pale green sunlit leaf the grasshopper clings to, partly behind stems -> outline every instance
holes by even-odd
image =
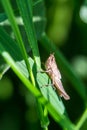
[[[29,58],[29,63],[30,63],[30,66],[31,68],[33,69],[34,67],[34,61]],[[24,61],[22,62],[18,62],[17,65],[20,67],[20,71],[23,73],[23,74],[26,74],[26,77],[27,77],[27,70],[26,70],[26,67],[25,69],[22,69],[22,67],[25,66],[25,63]],[[38,68],[39,69],[39,68]],[[34,72],[34,75],[35,75],[36,72]],[[53,90],[52,86],[49,86],[49,87],[46,87],[46,86],[43,86],[43,85],[47,85],[48,84],[48,80],[49,80],[49,83],[51,83],[49,77],[47,74],[45,73],[37,73],[37,83],[38,83],[38,87],[42,93],[42,95],[47,99],[49,100],[49,102],[54,106],[54,108],[56,108],[56,110],[63,114],[64,111],[65,111],[65,107],[62,103],[62,100],[60,100],[58,98],[58,95],[56,94],[56,92]],[[42,87],[43,86],[43,87]]]

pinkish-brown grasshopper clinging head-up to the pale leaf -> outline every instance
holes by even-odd
[[[53,85],[57,89],[58,94],[60,97],[64,97],[65,100],[69,100],[69,95],[65,92],[62,82],[61,82],[61,74],[57,67],[54,54],[50,54],[46,63],[45,63],[46,71],[49,77],[52,80]]]

